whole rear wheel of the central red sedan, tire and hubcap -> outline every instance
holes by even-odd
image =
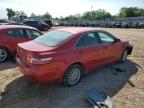
[[[65,72],[63,81],[64,86],[70,87],[78,84],[81,81],[82,74],[83,68],[80,65],[71,65]]]

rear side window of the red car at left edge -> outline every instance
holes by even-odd
[[[9,30],[7,34],[15,38],[25,38],[23,30]]]

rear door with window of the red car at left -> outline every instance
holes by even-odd
[[[11,49],[13,53],[16,53],[18,43],[28,41],[23,29],[11,29],[6,31],[7,36],[7,48]]]

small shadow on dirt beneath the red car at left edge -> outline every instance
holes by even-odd
[[[16,63],[13,59],[8,59],[7,61],[0,63],[0,71],[16,68]]]

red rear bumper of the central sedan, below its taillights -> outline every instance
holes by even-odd
[[[60,69],[55,69],[51,66],[28,66],[16,57],[17,65],[24,76],[38,84],[53,84],[60,83],[63,81],[63,71],[58,71]],[[57,65],[56,65],[57,66]]]

